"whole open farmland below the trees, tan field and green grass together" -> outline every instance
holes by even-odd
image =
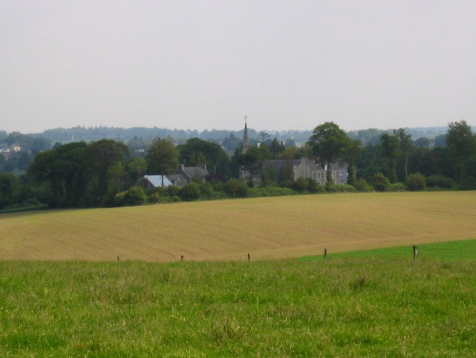
[[[474,357],[475,216],[476,192],[2,214],[0,357]]]

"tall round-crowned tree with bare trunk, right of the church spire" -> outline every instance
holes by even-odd
[[[313,129],[308,145],[315,156],[327,163],[327,182],[334,183],[331,164],[345,155],[350,147],[350,138],[334,122],[325,122]]]

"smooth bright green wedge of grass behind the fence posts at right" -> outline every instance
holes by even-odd
[[[418,246],[418,260],[431,259],[436,261],[474,261],[476,260],[476,240],[450,241],[447,243],[427,243]],[[385,248],[375,250],[363,250],[352,252],[329,252],[328,260],[334,259],[361,259],[364,257],[380,258],[411,258],[413,249],[411,246],[399,246],[396,248]],[[322,260],[322,255],[301,257],[302,261]]]

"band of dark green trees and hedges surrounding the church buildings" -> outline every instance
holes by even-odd
[[[12,139],[18,140],[19,137]],[[265,166],[269,159],[291,162],[300,157],[315,158],[327,164],[327,191],[335,190],[329,164],[344,161],[348,162],[348,184],[357,190],[476,189],[476,137],[465,121],[449,123],[445,146],[413,141],[405,129],[383,133],[378,142],[363,145],[359,138],[351,138],[333,122],[315,127],[308,141],[299,148],[276,137],[270,138],[262,131],[245,155],[236,148],[231,157],[222,145],[201,138],[190,138],[177,145],[170,136],[159,136],[143,144],[147,145],[147,154],[135,152],[130,146],[112,139],[89,144],[56,143],[51,149],[32,152],[34,157],[27,164],[25,174],[0,173],[0,209],[40,203],[47,203],[50,207],[121,205],[128,197],[124,193],[134,187],[141,176],[146,173],[168,175],[177,170],[179,164],[206,164],[210,172],[206,178],[208,186],[203,186],[202,178],[199,178],[190,187],[182,188],[180,195],[178,188],[168,191],[159,188],[156,192],[145,193],[140,201],[147,201],[149,197],[149,201],[156,202],[160,201],[160,196],[181,199],[197,199],[200,195],[204,199],[214,195],[221,197],[221,194],[212,195],[214,192],[223,192],[230,197],[243,196],[243,193],[245,196],[250,193],[254,196],[279,194],[278,189],[246,192],[246,187],[255,185],[285,187],[297,192],[322,192],[324,189],[316,188],[312,180],[294,180],[292,166],[285,167],[281,173]],[[239,182],[240,167],[255,173],[260,181]],[[133,195],[133,191],[129,194]],[[119,199],[118,194],[121,194]],[[156,195],[153,197],[152,194]],[[142,194],[140,196],[142,198]]]

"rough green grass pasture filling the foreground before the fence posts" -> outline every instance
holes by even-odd
[[[1,262],[1,357],[476,354],[476,262]]]

